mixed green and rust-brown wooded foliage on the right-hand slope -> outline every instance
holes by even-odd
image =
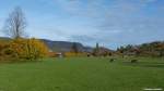
[[[164,41],[154,41],[140,46],[128,44],[117,49],[124,55],[164,56]]]

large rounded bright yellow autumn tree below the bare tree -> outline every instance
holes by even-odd
[[[44,42],[38,39],[15,39],[13,40],[11,48],[14,50],[15,55],[19,58],[36,60],[48,54],[48,48]]]

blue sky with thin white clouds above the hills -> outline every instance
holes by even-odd
[[[117,49],[164,40],[164,0],[0,0],[0,36],[21,6],[28,37]]]

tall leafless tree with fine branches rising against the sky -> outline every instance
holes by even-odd
[[[9,37],[16,39],[25,36],[26,20],[21,8],[16,6],[9,14],[3,30]]]

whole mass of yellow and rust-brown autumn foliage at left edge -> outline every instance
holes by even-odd
[[[47,53],[47,47],[34,38],[17,38],[11,42],[0,44],[0,56],[3,57],[3,60],[8,60],[9,57],[16,60],[37,60],[46,56]]]

